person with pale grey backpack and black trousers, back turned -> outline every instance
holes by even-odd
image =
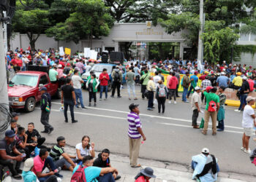
[[[162,80],[159,80],[156,92],[157,92],[156,98],[157,98],[157,103],[158,103],[158,114],[161,113],[161,106],[162,106],[162,114],[164,114],[165,113],[165,100],[166,100],[168,90],[167,90],[167,87],[165,87],[165,84],[163,84]]]

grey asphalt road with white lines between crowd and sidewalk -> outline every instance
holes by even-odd
[[[59,111],[60,100],[53,99],[50,124],[55,130],[50,135],[44,135],[47,137],[46,142],[56,143],[56,138],[63,135],[68,145],[75,146],[83,135],[89,135],[97,151],[108,148],[113,153],[129,154],[128,106],[129,103],[139,103],[140,118],[147,138],[140,148],[140,157],[189,165],[192,155],[199,154],[201,149],[207,147],[211,154],[218,158],[220,170],[223,172],[255,174],[255,167],[249,161],[249,154],[240,150],[242,113],[233,111],[232,107],[226,107],[225,132],[218,132],[212,136],[209,130],[208,135],[203,135],[200,130],[191,127],[190,103],[181,102],[181,98],[178,98],[176,105],[166,102],[165,114],[159,115],[157,108],[154,111],[146,110],[147,100],[141,99],[139,86],[136,86],[136,94],[139,100],[128,100],[127,90],[124,89],[121,90],[122,98],[109,97],[108,100],[97,100],[97,107],[75,109],[75,119],[78,119],[78,123],[75,124],[64,122],[64,114]],[[85,90],[83,98],[85,105],[88,106],[89,94]],[[200,114],[198,124],[201,117]],[[39,119],[40,110],[37,106],[31,113],[21,112],[19,122],[25,127],[29,122],[34,122],[36,128],[41,131],[43,127]],[[252,139],[249,146],[250,149],[255,148]]]

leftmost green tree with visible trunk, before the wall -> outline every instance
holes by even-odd
[[[28,6],[31,2],[31,0],[23,1]],[[26,9],[20,4],[20,1],[17,1],[15,16],[12,18],[12,29],[15,32],[26,33],[29,37],[31,50],[35,50],[35,43],[40,33],[43,33],[50,25],[49,11],[42,10],[46,8],[48,8],[48,5],[41,0],[37,1],[37,5],[33,9]]]

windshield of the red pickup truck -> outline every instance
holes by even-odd
[[[15,85],[27,85],[30,87],[36,87],[38,82],[38,76],[16,74],[11,80],[12,84]]]

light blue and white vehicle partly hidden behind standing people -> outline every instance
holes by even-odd
[[[110,80],[108,81],[108,92],[110,92],[110,90],[112,90],[112,71],[113,68],[115,68],[115,64],[109,64],[109,63],[99,63],[99,64],[95,64],[90,71],[94,71],[94,74],[96,75],[96,78],[99,79],[99,74],[102,73],[103,68],[107,69],[108,75],[110,77]],[[86,89],[86,82],[87,82],[87,78],[90,76],[90,71],[86,72],[82,75],[82,79],[83,79],[83,89]],[[125,76],[127,75],[127,70],[125,68],[123,68],[123,81],[122,84],[126,83],[125,80]]]

